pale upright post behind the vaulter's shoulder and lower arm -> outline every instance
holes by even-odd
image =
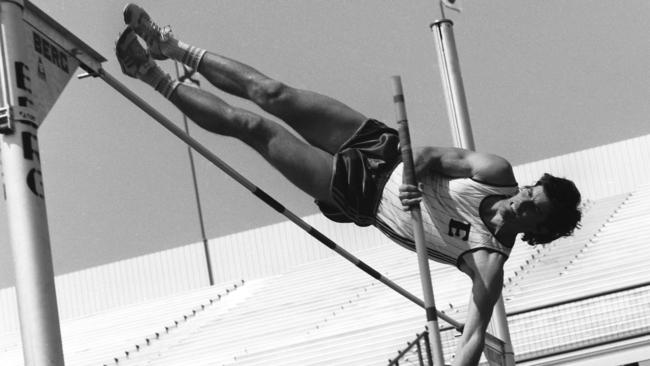
[[[454,39],[453,22],[449,19],[438,20],[431,24],[431,30],[438,51],[440,76],[445,92],[445,100],[447,101],[447,113],[454,145],[468,150],[475,150],[467,98]],[[514,366],[514,351],[503,297],[500,297],[495,305],[492,322],[495,325],[495,336],[504,342],[506,366]]]

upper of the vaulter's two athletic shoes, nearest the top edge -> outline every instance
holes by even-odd
[[[161,49],[165,42],[172,37],[169,26],[160,27],[151,20],[151,17],[141,7],[135,4],[127,4],[124,7],[124,23],[133,28],[135,33],[147,42],[149,54],[156,60],[165,60],[167,56]]]

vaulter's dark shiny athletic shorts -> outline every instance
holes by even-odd
[[[334,155],[330,183],[333,204],[316,204],[332,221],[372,225],[384,185],[400,161],[397,131],[377,120],[367,120]]]

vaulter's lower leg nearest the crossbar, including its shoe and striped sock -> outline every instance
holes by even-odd
[[[125,74],[153,86],[197,124],[240,139],[307,194],[320,201],[329,201],[331,154],[306,144],[269,119],[232,107],[207,91],[172,80],[129,29],[118,40],[116,54]]]

